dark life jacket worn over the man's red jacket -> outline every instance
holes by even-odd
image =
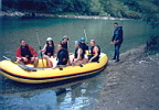
[[[26,58],[33,57],[33,55],[31,54],[29,50],[29,45],[20,46],[20,50],[21,50],[21,56],[26,57]]]

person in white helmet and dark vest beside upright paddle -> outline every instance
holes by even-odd
[[[52,37],[46,38],[46,44],[44,45],[42,52],[44,52],[44,59],[46,61],[47,67],[52,67],[53,62],[51,61],[51,58],[54,57],[55,53],[54,42]]]

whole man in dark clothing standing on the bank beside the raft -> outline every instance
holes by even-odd
[[[116,59],[115,62],[117,63],[117,62],[119,62],[120,45],[124,41],[124,38],[123,38],[123,26],[119,26],[118,23],[114,23],[114,28],[115,28],[115,31],[114,31],[114,36],[112,38],[110,44],[115,45],[115,54],[114,54],[113,59]]]

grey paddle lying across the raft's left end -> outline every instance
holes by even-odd
[[[7,56],[2,56],[2,57],[3,57],[4,59],[7,59],[7,61],[12,62],[12,59],[9,58],[9,57],[7,57]],[[31,68],[31,67],[28,67],[26,65],[22,65],[22,64],[15,63],[15,62],[12,62],[12,63],[18,64],[18,66],[21,67],[21,68],[24,69],[24,70],[28,70],[28,72],[36,72],[36,69]]]

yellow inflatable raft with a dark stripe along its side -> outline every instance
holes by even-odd
[[[108,62],[106,54],[102,53],[98,63],[83,64],[83,66],[67,66],[61,68],[42,68],[42,62],[39,62],[36,70],[29,72],[21,68],[17,63],[11,61],[0,62],[0,73],[4,77],[25,84],[43,84],[62,81],[73,78],[94,75],[102,72]],[[45,62],[44,62],[45,64]]]

